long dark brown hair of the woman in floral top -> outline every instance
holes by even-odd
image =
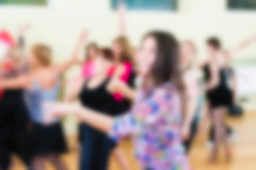
[[[178,41],[172,34],[164,31],[152,31],[146,34],[146,37],[154,37],[157,42],[157,56],[148,78],[154,86],[172,82],[180,92],[182,113],[186,113],[186,94],[180,69]]]

